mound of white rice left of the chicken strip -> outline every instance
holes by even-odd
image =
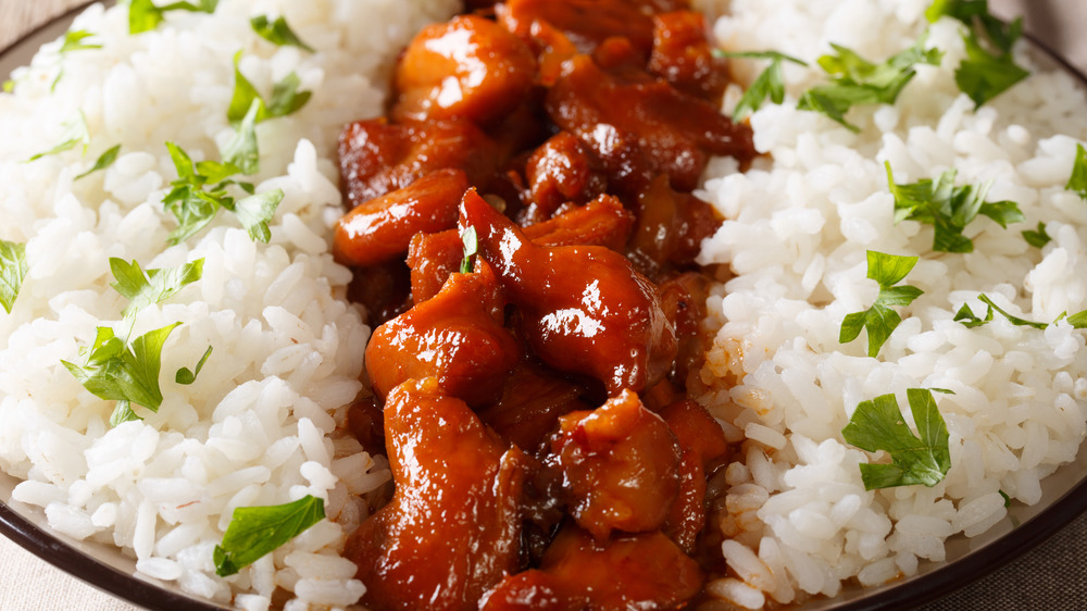
[[[447,18],[453,0],[223,0],[214,15],[171,12],[154,32],[128,35],[127,8],[93,5],[72,30],[102,49],[61,57],[47,45],[0,95],[0,239],[26,242],[29,273],[11,314],[0,311],[0,469],[25,479],[13,501],[43,508],[76,539],[123,548],[142,578],[243,609],[345,607],[364,591],[339,556],[366,515],[358,499],[390,478],[388,462],[333,435],[362,386],[368,328],[347,302],[350,273],[328,251],[340,213],[335,142],[342,124],[380,114],[389,66],[410,36]],[[285,15],[316,49],[276,47],[255,15]],[[195,161],[218,160],[232,129],[233,58],[265,98],[290,72],[310,102],[261,123],[258,191],[286,194],[268,245],[221,211],[187,242],[162,199],[176,178],[165,141]],[[59,80],[57,80],[60,75]],[[55,86],[53,87],[53,83]],[[52,89],[52,90],[51,90]],[[26,162],[86,117],[90,145]],[[86,178],[103,151],[121,155]],[[127,302],[110,287],[109,259],[145,269],[203,258],[203,278],[140,312],[133,337],[183,323],[162,352],[165,400],[115,428],[113,403],[61,365],[96,327],[124,335]],[[174,372],[214,352],[191,386]],[[212,550],[237,507],[313,495],[330,519],[242,570],[215,575]],[[332,520],[335,520],[332,521]],[[242,594],[245,593],[245,594]]]

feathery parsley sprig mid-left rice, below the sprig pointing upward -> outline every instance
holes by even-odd
[[[211,223],[221,208],[234,212],[252,239],[267,244],[272,238],[267,224],[283,201],[282,189],[252,195],[251,184],[230,179],[230,176],[241,172],[233,162],[192,163],[188,153],[177,145],[166,142],[166,148],[177,170],[177,179],[171,183],[173,190],[162,200],[177,220],[177,228],[170,234],[170,244],[183,242],[198,234]],[[250,194],[249,197],[235,201],[227,191],[230,185]]]

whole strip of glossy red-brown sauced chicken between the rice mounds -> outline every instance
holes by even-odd
[[[687,390],[721,224],[691,190],[750,129],[687,0],[467,8],[339,142],[334,248],[375,327],[349,426],[395,486],[348,541],[362,602],[686,607],[729,451]]]

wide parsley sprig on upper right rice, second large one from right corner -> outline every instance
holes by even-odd
[[[803,92],[797,108],[825,114],[853,132],[859,127],[846,121],[850,108],[859,104],[892,104],[916,74],[914,65],[939,65],[944,53],[939,49],[925,50],[927,36],[896,53],[882,64],[872,63],[839,45],[830,45],[837,54],[823,55],[819,64],[830,75],[833,83],[819,85]]]

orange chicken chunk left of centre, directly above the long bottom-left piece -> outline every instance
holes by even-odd
[[[385,323],[366,346],[366,371],[385,397],[409,379],[434,377],[447,396],[480,406],[498,399],[521,350],[505,328],[493,272],[453,274],[433,299]]]

